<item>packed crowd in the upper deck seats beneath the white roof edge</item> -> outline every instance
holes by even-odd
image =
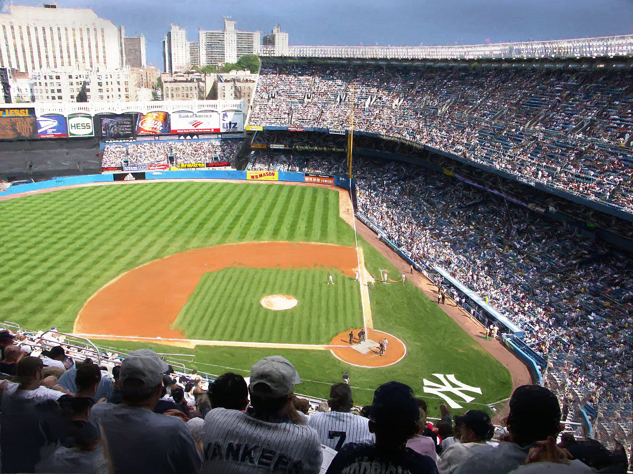
[[[613,69],[613,68],[611,68]],[[630,70],[265,64],[251,125],[428,145],[633,212]]]

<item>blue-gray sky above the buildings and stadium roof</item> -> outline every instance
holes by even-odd
[[[6,4],[11,0],[1,0]],[[41,6],[42,1],[13,4]],[[58,0],[59,8],[91,8],[127,36],[143,34],[147,63],[162,68],[170,23],[263,34],[279,23],[289,44],[419,46],[482,44],[633,34],[633,0]]]

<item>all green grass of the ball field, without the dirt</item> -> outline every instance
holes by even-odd
[[[151,260],[192,248],[275,240],[354,245],[353,229],[339,217],[338,192],[307,186],[187,182],[96,186],[0,202],[0,216],[0,312],[3,319],[29,329],[55,325],[60,331],[70,332],[78,310],[108,281]],[[373,274],[385,267],[391,268],[391,275],[398,274],[371,245],[362,239],[360,244]],[[235,284],[215,289],[222,292],[223,299],[236,300],[252,294],[258,301],[263,292],[272,288],[265,286],[266,271],[257,270],[258,274],[245,284],[249,269],[227,269],[227,276],[235,276]],[[306,281],[323,278],[319,270],[311,270],[314,275],[309,277],[309,271],[305,271]],[[199,321],[220,308],[218,300],[201,307],[206,304],[204,287],[207,283],[213,285],[218,275],[220,272],[203,279],[179,324],[186,326],[188,332],[208,334],[209,339],[220,339],[218,334],[260,337],[254,330],[250,335],[240,334],[239,328],[231,327],[237,325],[233,319],[236,315],[250,316],[247,310],[235,312],[235,307],[230,308],[223,332],[219,332],[218,325],[205,326]],[[279,293],[292,294],[293,287],[304,295],[312,291],[301,290],[296,278],[288,285],[290,289]],[[306,316],[303,325],[298,325],[298,333],[292,329],[292,337],[299,341],[310,337],[327,341],[323,334],[334,335],[347,329],[334,326],[339,320],[347,326],[349,320],[345,317],[358,317],[346,315],[348,308],[358,311],[358,287],[339,288],[335,291],[343,291],[344,297],[319,301],[318,312],[312,313],[312,319]],[[319,289],[315,286],[315,291]],[[304,298],[318,301],[316,294]],[[327,396],[329,384],[340,381],[349,369],[358,403],[368,403],[380,383],[401,380],[432,401],[432,407],[437,406],[439,399],[422,392],[423,378],[437,381],[433,373],[455,374],[461,382],[481,387],[483,394],[475,394],[477,399],[471,404],[462,403],[465,408],[480,408],[483,403],[510,395],[508,370],[413,284],[377,284],[370,289],[370,298],[376,329],[398,336],[408,348],[406,358],[391,367],[350,367],[329,351],[204,346],[194,350],[179,348],[177,352],[196,354],[191,367],[199,370],[215,374],[235,370],[243,375],[248,374],[257,358],[281,354],[296,364],[305,380],[298,392],[322,397]],[[327,319],[319,315],[322,312],[328,313]],[[242,325],[248,324],[246,319],[242,321]],[[290,334],[289,325],[283,318],[280,321],[284,324],[275,323],[276,329],[266,327],[270,341],[287,340],[283,338]],[[103,344],[120,350],[153,346],[173,353],[175,349],[119,341]]]

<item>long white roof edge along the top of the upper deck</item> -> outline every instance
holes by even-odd
[[[261,46],[260,56],[358,59],[573,59],[632,58],[633,35],[467,46],[289,46],[278,54]]]

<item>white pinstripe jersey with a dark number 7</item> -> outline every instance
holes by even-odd
[[[369,432],[368,423],[367,418],[344,411],[315,413],[308,421],[318,433],[321,444],[336,451],[348,443],[373,443],[375,438]]]

